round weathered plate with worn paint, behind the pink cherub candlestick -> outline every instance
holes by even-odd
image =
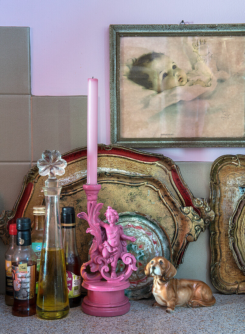
[[[141,299],[151,295],[153,278],[145,276],[144,267],[156,256],[163,256],[172,262],[172,246],[164,227],[157,220],[139,212],[119,213],[118,224],[123,226],[124,233],[135,236],[135,242],[127,241],[127,251],[136,259],[137,271],[129,278],[130,287],[125,289],[129,299]],[[122,270],[122,261],[118,271]]]

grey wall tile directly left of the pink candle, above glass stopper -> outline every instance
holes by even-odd
[[[87,145],[87,96],[32,96],[33,161]]]

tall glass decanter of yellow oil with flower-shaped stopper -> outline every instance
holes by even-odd
[[[69,313],[66,265],[59,216],[61,187],[56,175],[63,175],[67,163],[58,151],[44,151],[37,161],[39,174],[48,175],[43,192],[46,203],[36,313],[41,319],[60,319]]]

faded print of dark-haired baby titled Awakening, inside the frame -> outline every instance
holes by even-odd
[[[244,137],[244,51],[244,36],[120,37],[121,137]]]

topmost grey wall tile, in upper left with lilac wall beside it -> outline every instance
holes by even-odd
[[[30,94],[29,27],[0,27],[0,94]]]

